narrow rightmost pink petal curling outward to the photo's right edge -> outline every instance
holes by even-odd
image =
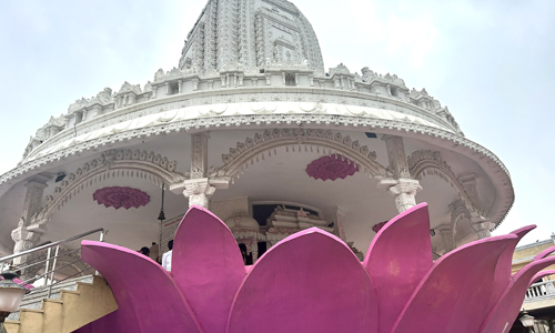
[[[518,271],[477,332],[508,332],[508,329],[511,329],[512,323],[518,315],[532,279],[537,272],[554,263],[555,258],[552,256],[534,261]]]

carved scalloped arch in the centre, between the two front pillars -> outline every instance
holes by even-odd
[[[387,175],[386,169],[377,163],[376,153],[370,151],[366,145],[361,147],[359,141],[353,141],[351,137],[343,137],[341,132],[332,130],[315,129],[274,129],[265,130],[263,133],[254,134],[254,139],[246,138],[244,142],[238,142],[236,148],[230,148],[229,154],[222,154],[224,163],[218,170],[210,172],[211,179],[230,180],[239,172],[248,169],[249,163],[253,164],[264,160],[264,155],[276,154],[276,149],[286,147],[286,152],[292,153],[303,151],[314,151],[322,149],[330,151],[330,154],[339,152],[345,158],[354,161],[371,178],[383,178]]]

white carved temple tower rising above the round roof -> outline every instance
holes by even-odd
[[[285,0],[212,0],[189,32],[180,70],[307,64],[324,72],[320,44],[301,11]]]

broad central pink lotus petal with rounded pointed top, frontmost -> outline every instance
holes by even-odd
[[[345,243],[312,228],[254,264],[233,303],[228,332],[377,332],[374,286]]]

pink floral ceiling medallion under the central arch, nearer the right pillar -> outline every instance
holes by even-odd
[[[359,171],[359,165],[347,158],[340,154],[333,154],[330,157],[323,157],[317,160],[312,161],[312,163],[306,167],[306,173],[313,179],[336,180],[345,179],[347,175],[353,175]]]

